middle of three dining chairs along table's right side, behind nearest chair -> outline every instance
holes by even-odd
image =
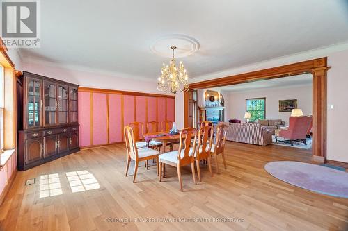
[[[198,131],[198,146],[195,155],[196,168],[198,173],[198,180],[202,182],[200,178],[200,160],[207,160],[207,164],[209,167],[210,175],[213,176],[212,173],[212,139],[213,139],[213,130],[212,126],[203,126]]]

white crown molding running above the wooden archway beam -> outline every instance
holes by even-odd
[[[311,60],[315,58],[321,58],[327,56],[331,53],[348,50],[348,41],[333,44],[330,46],[322,46],[318,49],[312,49],[308,51],[303,51],[299,53],[294,53],[291,55],[280,56],[278,58],[272,58],[269,60],[264,60],[262,62],[255,62],[250,65],[244,65],[241,67],[234,67],[231,69],[225,69],[223,71],[216,71],[203,76],[198,76],[196,78],[191,78],[190,83],[197,83],[203,80],[210,80],[214,78],[223,78],[226,76],[233,76],[236,74],[242,74],[250,71],[258,71],[260,69],[268,69],[271,67],[278,67],[281,65],[287,65],[294,62],[301,62],[306,60]]]

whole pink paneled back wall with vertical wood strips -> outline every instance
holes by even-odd
[[[99,89],[80,89],[78,105],[81,147],[122,142],[123,126],[134,121],[143,122],[145,132],[148,121],[161,122],[165,119],[174,121],[173,98],[138,96],[135,93],[129,95],[112,91],[100,93]],[[90,123],[90,119],[93,123]],[[91,131],[93,131],[92,139]]]

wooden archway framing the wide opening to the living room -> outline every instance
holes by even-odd
[[[313,161],[324,163],[326,160],[326,71],[327,58],[317,58],[290,65],[252,71],[235,76],[215,78],[198,83],[191,83],[190,89],[203,89],[208,87],[222,87],[239,83],[248,83],[272,78],[283,78],[299,74],[311,73],[313,75]],[[184,125],[188,126],[189,92],[184,94]]]

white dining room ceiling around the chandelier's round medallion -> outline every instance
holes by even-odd
[[[171,34],[199,44],[178,58],[191,78],[348,41],[345,0],[45,0],[40,7],[41,48],[22,49],[24,62],[151,80],[169,60],[150,46]]]

